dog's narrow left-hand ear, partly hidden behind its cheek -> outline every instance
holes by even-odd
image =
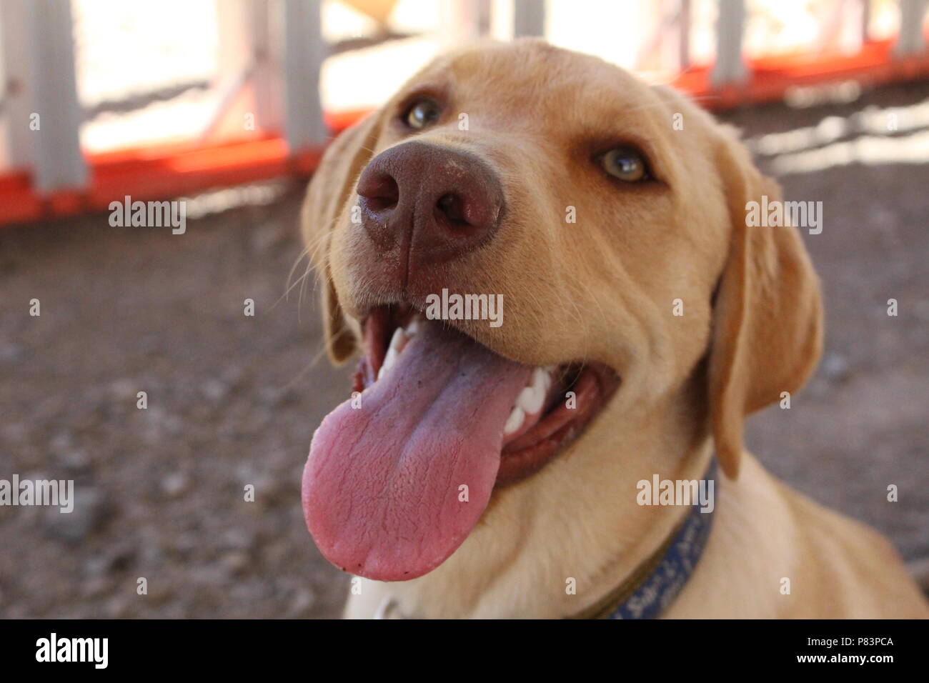
[[[329,247],[335,220],[341,215],[372,150],[380,137],[383,112],[373,112],[347,128],[322,155],[309,183],[300,215],[309,259],[317,269],[322,292],[322,323],[326,350],[334,363],[345,361],[355,350],[355,335],[346,323],[329,266]]]

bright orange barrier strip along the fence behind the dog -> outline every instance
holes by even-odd
[[[682,73],[674,86],[700,98],[700,104],[720,110],[746,102],[782,98],[791,87],[856,80],[879,85],[929,76],[929,54],[895,59],[892,41],[873,41],[856,55],[755,59],[744,84],[714,88],[712,66]],[[365,112],[328,113],[334,134]],[[290,154],[284,140],[263,137],[210,145],[162,145],[137,150],[88,155],[89,187],[38,195],[27,172],[0,175],[0,224],[107,210],[128,195],[147,201],[189,195],[199,190],[229,187],[270,177],[307,177],[319,164],[322,148]]]

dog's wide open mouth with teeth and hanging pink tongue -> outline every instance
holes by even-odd
[[[545,466],[619,384],[604,365],[533,367],[409,307],[373,309],[352,400],[323,419],[307,527],[336,566],[380,581],[435,569],[495,486]]]

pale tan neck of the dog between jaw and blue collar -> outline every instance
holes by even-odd
[[[656,474],[700,479],[710,462],[700,402],[681,398],[669,397],[659,411],[610,406],[569,452],[496,493],[478,527],[438,569],[384,584],[396,611],[413,618],[551,618],[602,601],[661,550],[688,512],[638,505],[637,482]]]

